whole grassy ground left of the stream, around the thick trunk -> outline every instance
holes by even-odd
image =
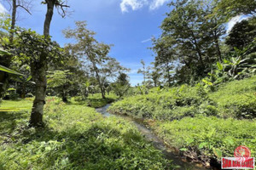
[[[31,100],[1,107],[31,107]],[[30,110],[0,113],[0,169],[168,169],[159,150],[120,118],[47,99],[46,127],[28,128]]]

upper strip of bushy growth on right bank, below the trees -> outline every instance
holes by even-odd
[[[234,118],[256,117],[256,77],[222,84],[206,93],[200,85],[151,89],[149,94],[127,97],[109,111],[138,118],[179,120],[185,116],[206,115]]]

